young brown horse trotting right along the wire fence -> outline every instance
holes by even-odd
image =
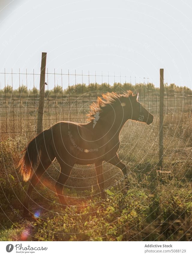
[[[31,180],[24,201],[24,213],[29,213],[28,203],[32,189],[55,157],[61,167],[55,190],[64,209],[67,203],[63,187],[74,164],[95,164],[102,199],[105,198],[103,161],[117,166],[124,177],[127,176],[126,166],[117,154],[119,133],[128,119],[150,125],[153,115],[137,101],[138,93],[106,93],[102,97],[104,100],[98,97],[92,103],[88,123],[58,122],[38,134],[23,150],[26,152],[19,162],[20,172],[24,181]]]

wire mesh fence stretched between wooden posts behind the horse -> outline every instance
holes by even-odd
[[[0,73],[0,121],[1,133],[36,132],[40,99],[40,74],[6,72]],[[149,78],[136,78],[109,73],[83,73],[46,70],[44,96],[44,129],[58,121],[86,123],[90,105],[102,93],[139,92],[139,101],[159,125],[158,84]],[[188,87],[164,83],[164,124],[187,122],[191,118],[192,91]],[[128,121],[126,125],[142,125]]]

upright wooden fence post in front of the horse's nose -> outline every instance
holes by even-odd
[[[160,103],[159,103],[159,167],[163,164],[163,122],[164,122],[164,69],[160,68]]]

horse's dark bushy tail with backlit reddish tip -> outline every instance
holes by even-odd
[[[20,172],[23,176],[24,181],[31,179],[34,167],[37,165],[40,157],[40,152],[43,145],[46,146],[47,142],[52,139],[52,129],[42,131],[34,139],[32,139],[27,147],[22,151],[25,152],[24,156],[19,161]]]

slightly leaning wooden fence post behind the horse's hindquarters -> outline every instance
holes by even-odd
[[[40,75],[40,89],[39,89],[39,108],[37,121],[37,134],[43,131],[43,112],[44,112],[44,97],[45,97],[45,70],[46,70],[47,53],[42,52],[41,57],[41,75]]]

